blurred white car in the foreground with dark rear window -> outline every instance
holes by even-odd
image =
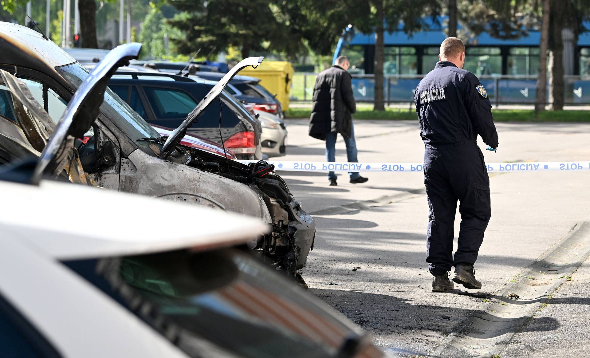
[[[2,357],[383,356],[232,248],[267,230],[258,219],[48,180],[0,192]]]

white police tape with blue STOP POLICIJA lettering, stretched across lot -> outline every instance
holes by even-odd
[[[248,164],[257,160],[236,160]],[[274,164],[275,170],[287,172],[373,172],[373,173],[416,173],[424,170],[422,163],[346,163],[346,162],[300,162],[267,160]],[[510,172],[559,172],[590,170],[590,162],[514,162],[486,163],[489,173]]]

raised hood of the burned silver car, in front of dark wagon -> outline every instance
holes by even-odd
[[[225,74],[224,77],[221,78],[221,80],[219,80],[219,82],[217,84],[215,84],[215,86],[213,86],[213,88],[211,88],[209,93],[207,93],[207,96],[205,96],[196,105],[195,109],[192,110],[191,113],[188,114],[188,116],[186,116],[186,119],[184,121],[182,121],[181,125],[172,131],[172,134],[170,134],[168,139],[166,139],[166,142],[164,143],[164,146],[162,147],[162,153],[160,153],[160,156],[166,157],[172,152],[172,150],[174,150],[174,148],[180,142],[182,137],[185,136],[186,130],[188,129],[188,127],[190,127],[191,124],[201,115],[201,113],[203,113],[203,111],[205,111],[205,109],[207,109],[209,104],[211,104],[215,100],[215,98],[217,98],[219,96],[219,94],[221,94],[221,91],[223,91],[225,86],[227,86],[228,83],[230,83],[231,79],[234,78],[234,76],[238,72],[240,72],[240,70],[242,70],[242,68],[245,68],[248,66],[252,66],[252,67],[256,68],[256,67],[258,67],[258,65],[260,65],[262,63],[263,60],[264,60],[264,57],[244,58],[244,60],[241,60],[240,63],[235,65],[234,68],[232,68],[230,70],[230,72]]]

